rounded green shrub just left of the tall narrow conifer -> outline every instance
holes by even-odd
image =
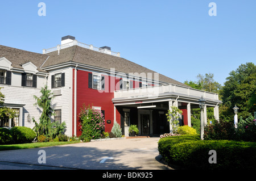
[[[24,144],[32,142],[35,139],[36,134],[31,128],[13,127],[11,128],[11,136],[13,136],[15,144]]]

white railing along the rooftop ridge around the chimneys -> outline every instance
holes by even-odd
[[[88,44],[85,44],[85,43],[81,43],[77,40],[73,40],[73,41],[71,41],[69,43],[66,43],[66,44],[63,44],[63,45],[57,45],[57,47],[43,49],[43,54],[50,53],[50,52],[55,52],[57,50],[72,47],[74,45],[77,45],[77,46],[82,47],[82,48],[91,49],[91,50],[94,50],[96,52],[106,53],[106,54],[110,54],[112,56],[120,57],[119,52],[113,52],[113,51],[108,50],[108,49],[93,47],[93,45],[88,45]]]

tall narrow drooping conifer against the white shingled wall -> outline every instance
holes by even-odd
[[[47,86],[42,87],[40,92],[42,93],[40,97],[34,95],[36,100],[35,106],[39,106],[43,111],[39,118],[39,124],[35,121],[34,117],[32,118],[35,123],[33,129],[36,132],[36,136],[43,135],[48,139],[54,139],[60,133],[65,131],[65,122],[61,124],[59,122],[51,122],[51,116],[54,113],[54,110],[51,107],[53,95],[51,90],[48,90]]]

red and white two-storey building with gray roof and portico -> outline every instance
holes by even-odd
[[[177,106],[183,111],[180,124],[191,126],[191,109],[204,97],[207,107],[214,107],[218,119],[218,94],[192,89],[120,57],[110,47],[97,48],[80,43],[73,36],[61,38],[57,47],[33,53],[0,45],[0,84],[5,105],[14,108],[17,117],[1,118],[0,127],[34,127],[40,108],[34,95],[40,96],[44,85],[53,92],[52,121],[65,121],[68,136],[80,136],[77,116],[82,106],[92,106],[105,116],[105,131],[114,121],[128,136],[129,125],[136,124],[139,134],[170,132],[167,110]],[[204,116],[207,116],[205,107]],[[206,120],[206,119],[205,119]]]

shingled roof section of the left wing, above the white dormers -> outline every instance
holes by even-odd
[[[45,70],[40,69],[40,66],[48,57],[46,54],[28,52],[26,50],[0,45],[0,58],[1,57],[5,57],[7,60],[11,61],[13,68],[23,69],[23,64],[32,62],[35,66],[38,67],[38,71],[46,72]]]

